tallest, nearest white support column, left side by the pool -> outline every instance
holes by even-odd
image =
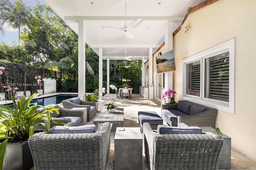
[[[84,20],[78,20],[78,97],[85,94],[85,34]]]

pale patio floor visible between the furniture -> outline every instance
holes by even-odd
[[[110,94],[111,98],[114,98],[114,94]],[[110,103],[108,95],[102,97],[99,100],[99,107],[97,115],[103,108],[106,108],[104,104]],[[158,115],[161,115],[161,103],[156,100],[144,99],[139,94],[132,94],[132,99],[118,99],[116,98],[116,105],[124,108],[124,127],[139,127],[138,123],[138,111],[155,111]],[[96,116],[97,116],[96,115]],[[87,124],[93,124],[93,120],[96,116]],[[112,124],[111,128],[111,146],[110,154],[108,158],[108,170],[114,169],[114,136],[116,132],[117,124]],[[227,134],[228,135],[228,134]],[[146,165],[146,158],[143,150],[143,170],[148,170]],[[256,170],[256,162],[241,154],[234,148],[231,148],[231,170]]]

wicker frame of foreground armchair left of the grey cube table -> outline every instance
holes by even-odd
[[[35,170],[104,170],[110,149],[110,123],[94,133],[36,133],[28,144]]]

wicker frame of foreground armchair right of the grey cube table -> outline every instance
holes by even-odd
[[[223,138],[216,134],[159,134],[143,124],[151,170],[218,170]]]

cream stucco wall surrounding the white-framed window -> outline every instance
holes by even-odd
[[[190,25],[191,32],[184,28]],[[182,93],[182,59],[235,38],[235,113],[218,110],[216,127],[256,160],[256,1],[219,0],[191,13],[173,39],[173,88]],[[176,95],[176,101],[182,99]]]

